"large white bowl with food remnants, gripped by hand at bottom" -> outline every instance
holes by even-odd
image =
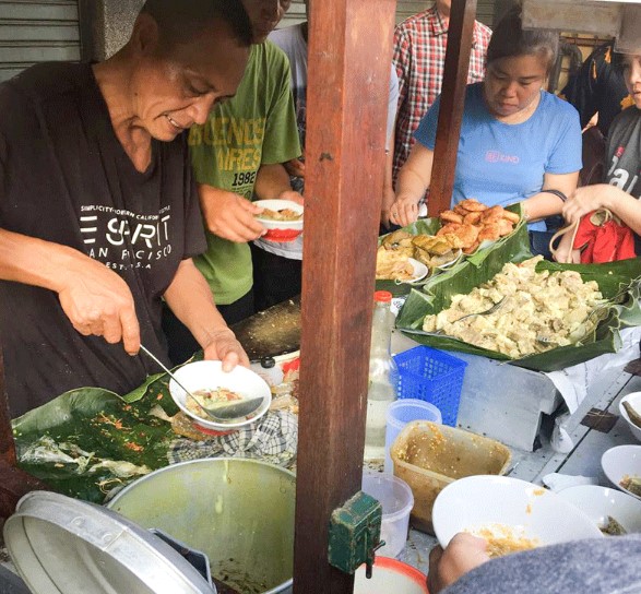
[[[557,494],[509,476],[467,476],[451,483],[436,498],[431,521],[442,547],[459,532],[484,528],[539,545],[603,537],[587,515]]]

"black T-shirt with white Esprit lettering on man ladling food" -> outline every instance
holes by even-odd
[[[70,246],[116,271],[143,344],[166,357],[161,298],[206,248],[187,139],[152,141],[140,173],[88,64],[38,64],[0,85],[0,227]],[[158,369],[79,334],[58,295],[0,282],[0,344],[12,416],[85,385],[124,394]]]

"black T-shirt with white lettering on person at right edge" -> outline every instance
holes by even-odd
[[[606,183],[641,199],[641,109],[628,107],[614,119],[605,157]],[[641,256],[641,237],[636,234],[634,251]]]

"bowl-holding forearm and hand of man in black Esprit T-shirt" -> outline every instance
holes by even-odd
[[[238,364],[249,366],[247,354],[216,309],[212,290],[192,260],[180,262],[164,297],[202,346],[205,359],[222,360],[225,371]]]

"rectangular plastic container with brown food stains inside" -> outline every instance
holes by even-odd
[[[391,456],[394,476],[414,495],[412,525],[428,534],[434,534],[434,501],[446,486],[464,476],[502,475],[512,460],[510,450],[499,441],[426,420],[405,425]]]

